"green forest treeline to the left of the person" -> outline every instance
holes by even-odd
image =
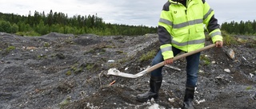
[[[97,14],[75,15],[69,18],[67,14],[50,10],[49,14],[34,11],[34,15],[30,12],[27,16],[0,12],[0,32],[26,36],[40,36],[51,32],[134,36],[157,33],[157,27],[106,23]]]

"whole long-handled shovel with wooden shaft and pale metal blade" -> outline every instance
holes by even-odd
[[[206,47],[204,47],[202,49],[197,49],[197,50],[189,52],[189,53],[184,53],[184,54],[179,55],[179,56],[174,56],[174,60],[178,60],[178,59],[180,59],[182,57],[190,56],[190,55],[192,55],[194,53],[202,52],[203,50],[210,49],[210,48],[212,48],[214,46],[215,46],[215,44],[207,45]],[[145,70],[143,70],[142,72],[138,72],[137,74],[130,74],[130,73],[125,73],[125,72],[120,72],[116,68],[110,68],[108,70],[108,72],[107,72],[107,75],[122,76],[122,77],[126,77],[126,78],[138,78],[140,76],[143,76],[147,72],[151,72],[151,71],[153,71],[156,68],[162,67],[163,65],[165,65],[164,61],[162,61],[161,63],[155,64],[154,66],[152,66],[150,68],[146,68]]]

